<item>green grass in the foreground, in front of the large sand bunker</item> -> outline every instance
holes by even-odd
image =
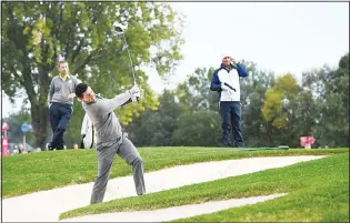
[[[286,168],[181,186],[143,196],[93,204],[64,212],[60,215],[60,220],[87,214],[156,210],[207,201],[288,193],[286,196],[268,202],[229,209],[181,221],[349,222],[348,151],[344,154],[297,163]],[[301,153],[302,151],[299,152]],[[317,152],[320,151],[312,151],[312,153]],[[256,155],[261,154],[260,152],[256,153]]]

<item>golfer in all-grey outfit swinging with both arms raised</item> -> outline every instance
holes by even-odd
[[[76,95],[91,120],[97,135],[98,175],[94,180],[90,203],[103,201],[116,153],[129,165],[132,165],[136,192],[138,195],[144,194],[143,161],[132,142],[122,135],[121,125],[113,112],[117,108],[137,101],[137,97],[140,97],[139,87],[134,84],[124,93],[112,99],[103,99],[94,95],[88,84],[79,83],[76,87]]]

